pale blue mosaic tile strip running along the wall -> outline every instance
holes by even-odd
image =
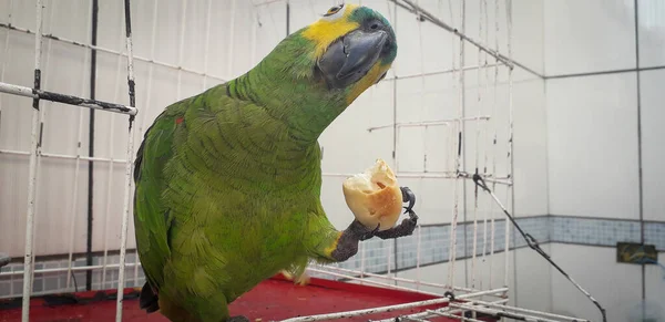
[[[563,242],[587,246],[604,246],[614,247],[620,241],[640,241],[640,222],[634,220],[615,220],[615,219],[597,219],[597,218],[580,218],[565,216],[538,216],[516,219],[520,227],[533,236],[540,243]],[[494,252],[502,252],[505,242],[505,220],[494,221]],[[488,245],[487,253],[490,253],[491,248],[491,222],[487,226]],[[449,261],[449,245],[450,245],[450,225],[431,225],[420,228],[420,266],[434,263],[443,263]],[[483,224],[478,224],[477,235],[477,255],[481,256],[483,251],[484,239]],[[511,227],[511,231],[515,231]],[[464,232],[467,233],[467,251],[464,251]],[[649,221],[645,222],[645,242],[656,246],[658,251],[665,251],[665,222]],[[472,255],[473,250],[473,224],[460,222],[457,227],[457,247],[456,258],[464,259]],[[516,233],[516,231],[515,231]],[[524,239],[515,236],[515,240],[511,240],[510,248],[514,249],[526,246]],[[396,249],[397,247],[397,249]],[[339,263],[340,268],[352,270],[365,270],[366,272],[383,273],[388,271],[401,271],[412,269],[418,261],[418,230],[413,236],[399,238],[395,240],[381,240],[378,238],[370,239],[361,243],[357,256],[346,262]],[[397,258],[397,260],[396,260]],[[117,263],[119,257],[109,256],[108,263]],[[95,256],[93,264],[102,264],[103,256]],[[127,263],[135,262],[135,255],[127,255]],[[74,267],[85,264],[85,258],[76,258]],[[66,259],[40,261],[35,264],[35,269],[54,269],[66,268]],[[1,272],[20,272],[22,263],[13,263],[2,268]],[[102,270],[94,270],[92,273],[92,288],[114,289],[117,282],[117,269],[109,269],[105,272],[106,278],[102,281]],[[145,279],[141,268],[134,272],[134,267],[126,268],[126,285],[141,287]],[[321,278],[330,278],[324,274],[313,274]],[[33,292],[35,294],[49,292],[71,292],[74,291],[74,280],[78,284],[78,290],[85,288],[85,272],[74,272],[74,279],[66,288],[66,272],[39,273],[34,277]],[[0,276],[0,298],[19,297],[22,291],[22,273],[14,276]]]

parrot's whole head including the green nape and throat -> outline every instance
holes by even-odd
[[[260,86],[255,101],[316,138],[386,76],[396,56],[388,20],[370,8],[345,3],[283,39],[249,71],[256,76],[243,83]]]

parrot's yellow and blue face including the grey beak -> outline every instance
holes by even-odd
[[[356,4],[330,8],[294,37],[314,45],[313,76],[331,92],[345,92],[350,104],[385,76],[397,56],[392,27],[379,12]]]

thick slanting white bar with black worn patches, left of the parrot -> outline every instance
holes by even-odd
[[[121,104],[108,103],[90,98],[81,98],[72,95],[59,94],[8,83],[0,83],[0,92],[126,115],[136,115],[139,113],[139,110],[136,110],[135,107],[130,107]]]

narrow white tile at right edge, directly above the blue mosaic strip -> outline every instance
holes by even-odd
[[[665,221],[665,71],[640,73],[642,105],[642,177],[644,194],[644,219]]]

